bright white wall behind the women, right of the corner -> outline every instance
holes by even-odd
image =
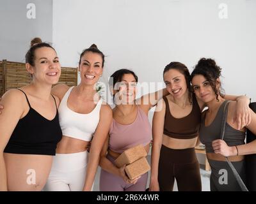
[[[219,18],[220,3],[227,19]],[[103,81],[130,68],[140,82],[162,82],[169,62],[192,70],[200,57],[212,57],[225,91],[256,101],[255,19],[253,0],[53,0],[53,42],[63,66],[77,66],[96,43],[107,55]]]

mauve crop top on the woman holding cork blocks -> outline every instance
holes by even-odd
[[[123,125],[112,120],[109,129],[109,149],[122,153],[136,145],[147,145],[152,139],[152,131],[148,116],[137,106],[137,117],[131,124]]]

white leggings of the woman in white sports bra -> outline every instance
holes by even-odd
[[[82,191],[88,152],[56,154],[44,191]]]

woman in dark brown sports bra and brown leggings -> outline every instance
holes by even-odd
[[[201,191],[195,145],[204,103],[191,92],[190,75],[184,64],[171,62],[164,68],[163,77],[170,95],[157,103],[153,117],[150,191],[172,191],[174,179],[179,191]],[[248,101],[244,96],[239,99]],[[238,110],[243,112],[244,106],[242,103]],[[247,118],[246,114],[241,117]]]

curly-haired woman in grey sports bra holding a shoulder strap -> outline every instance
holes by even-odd
[[[193,89],[198,98],[208,106],[202,113],[200,141],[205,144],[206,155],[211,166],[211,191],[241,191],[241,187],[228,165],[226,158],[236,168],[244,183],[244,155],[256,153],[256,141],[244,144],[245,128],[237,127],[233,121],[236,101],[223,98],[220,85],[221,69],[212,59],[200,59],[191,74]],[[223,117],[227,112],[225,133],[221,140]],[[252,120],[248,120],[246,128],[256,133],[256,115],[249,110]]]

